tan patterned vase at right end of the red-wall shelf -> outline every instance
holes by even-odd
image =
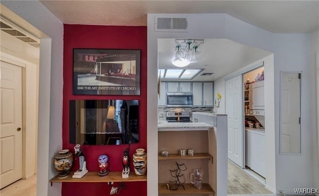
[[[133,166],[135,174],[138,176],[146,175],[147,171],[147,154],[145,149],[138,148],[133,155]]]

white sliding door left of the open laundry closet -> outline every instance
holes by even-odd
[[[228,118],[228,158],[244,168],[243,82],[242,75],[225,82]]]

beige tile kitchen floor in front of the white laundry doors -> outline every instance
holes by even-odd
[[[250,177],[241,168],[228,160],[228,195],[262,195],[275,196],[264,185]],[[266,195],[264,195],[266,196]]]

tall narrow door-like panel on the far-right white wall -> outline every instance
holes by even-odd
[[[280,89],[281,153],[301,153],[300,77],[282,73]]]

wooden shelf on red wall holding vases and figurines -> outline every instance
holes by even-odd
[[[57,176],[50,180],[51,183],[102,183],[102,182],[137,182],[147,181],[147,176],[137,176],[130,172],[129,178],[122,178],[122,172],[109,172],[107,176],[100,177],[98,172],[88,172],[82,178],[72,178],[71,172],[67,178],[59,179]]]

